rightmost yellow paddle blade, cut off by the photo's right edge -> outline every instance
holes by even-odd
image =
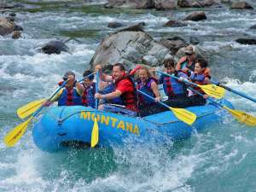
[[[245,113],[243,111],[230,109],[225,106],[224,109],[228,110],[239,122],[248,126],[256,127],[256,117],[253,117],[253,115]]]

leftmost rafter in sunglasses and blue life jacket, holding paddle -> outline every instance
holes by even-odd
[[[73,106],[82,104],[82,96],[84,87],[76,81],[75,74],[71,71],[64,74],[63,81],[67,81],[65,87],[50,100],[44,102],[44,106],[49,106],[51,103],[58,101],[58,106]]]

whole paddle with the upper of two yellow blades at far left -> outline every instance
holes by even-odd
[[[83,79],[79,80],[79,82],[84,81],[84,79],[89,78],[93,74],[94,73],[90,73],[89,75],[87,75]],[[55,93],[53,94],[54,96],[57,92],[59,92],[59,90],[61,90],[62,87],[65,86],[66,83],[65,84],[64,83],[61,84],[61,86],[57,90],[55,90]],[[24,119],[24,118],[28,117],[29,115],[31,115],[32,113],[36,112],[38,110],[38,108],[40,108],[41,105],[46,100],[50,101],[51,98],[52,98],[52,96],[49,99],[41,99],[41,100],[38,100],[38,101],[30,102],[30,103],[26,104],[25,106],[22,106],[21,108],[19,108],[17,110],[17,114],[18,114],[19,118]]]

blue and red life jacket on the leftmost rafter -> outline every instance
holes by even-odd
[[[79,96],[76,88],[71,90],[63,88],[61,91],[62,93],[58,100],[58,106],[73,106],[82,104],[81,96]]]

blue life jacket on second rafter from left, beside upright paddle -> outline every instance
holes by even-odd
[[[84,84],[83,84],[84,85]],[[92,83],[90,87],[84,87],[84,96],[82,96],[82,105],[95,108],[96,83]]]

